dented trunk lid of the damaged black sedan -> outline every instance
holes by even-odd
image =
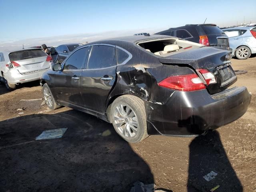
[[[214,94],[236,82],[236,74],[230,66],[231,58],[230,51],[204,46],[171,56],[159,57],[159,61],[162,64],[190,66],[197,74],[197,69],[207,69],[214,74],[217,81],[214,84],[206,85],[208,92]],[[199,77],[203,78],[200,75]]]

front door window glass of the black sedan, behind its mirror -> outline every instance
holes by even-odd
[[[65,62],[64,70],[79,70],[84,67],[89,47],[75,51]]]

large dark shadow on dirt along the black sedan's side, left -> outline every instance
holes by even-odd
[[[34,140],[68,128],[62,138]],[[70,110],[0,122],[0,191],[130,191],[154,182],[148,164],[112,124]]]

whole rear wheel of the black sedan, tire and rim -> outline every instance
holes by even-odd
[[[123,95],[111,104],[111,119],[116,132],[127,142],[138,143],[148,137],[143,100]]]

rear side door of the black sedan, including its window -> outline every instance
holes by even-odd
[[[85,108],[94,113],[106,112],[106,99],[116,80],[116,51],[109,44],[91,47],[87,68],[82,71],[80,91]]]

